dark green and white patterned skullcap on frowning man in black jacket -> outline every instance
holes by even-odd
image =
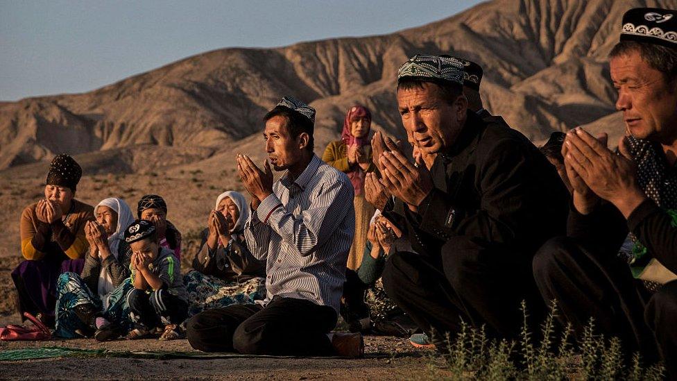
[[[422,81],[448,81],[463,85],[463,62],[449,56],[417,54],[397,71],[397,80],[415,78]]]

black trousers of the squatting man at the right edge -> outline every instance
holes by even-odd
[[[592,317],[597,332],[619,337],[646,362],[658,359],[658,344],[670,378],[677,379],[677,281],[652,296],[616,253],[568,237],[540,248],[533,272],[543,298],[557,300],[579,335]]]

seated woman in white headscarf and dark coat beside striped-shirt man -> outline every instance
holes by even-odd
[[[189,316],[266,297],[266,263],[250,253],[244,239],[249,205],[239,192],[223,192],[209,213],[194,271],[186,274]]]

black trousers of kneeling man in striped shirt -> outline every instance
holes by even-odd
[[[230,305],[200,312],[188,321],[187,337],[205,352],[328,356],[333,349],[327,333],[336,319],[332,307],[275,297],[266,307]]]

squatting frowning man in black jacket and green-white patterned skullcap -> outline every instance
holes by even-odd
[[[565,230],[567,190],[526,137],[468,110],[459,60],[405,62],[397,103],[409,141],[437,155],[428,171],[380,134],[372,141],[382,178],[370,176],[368,199],[405,228],[416,252],[391,255],[386,292],[438,349],[461,319],[514,337],[522,300],[543,310],[531,259]]]

